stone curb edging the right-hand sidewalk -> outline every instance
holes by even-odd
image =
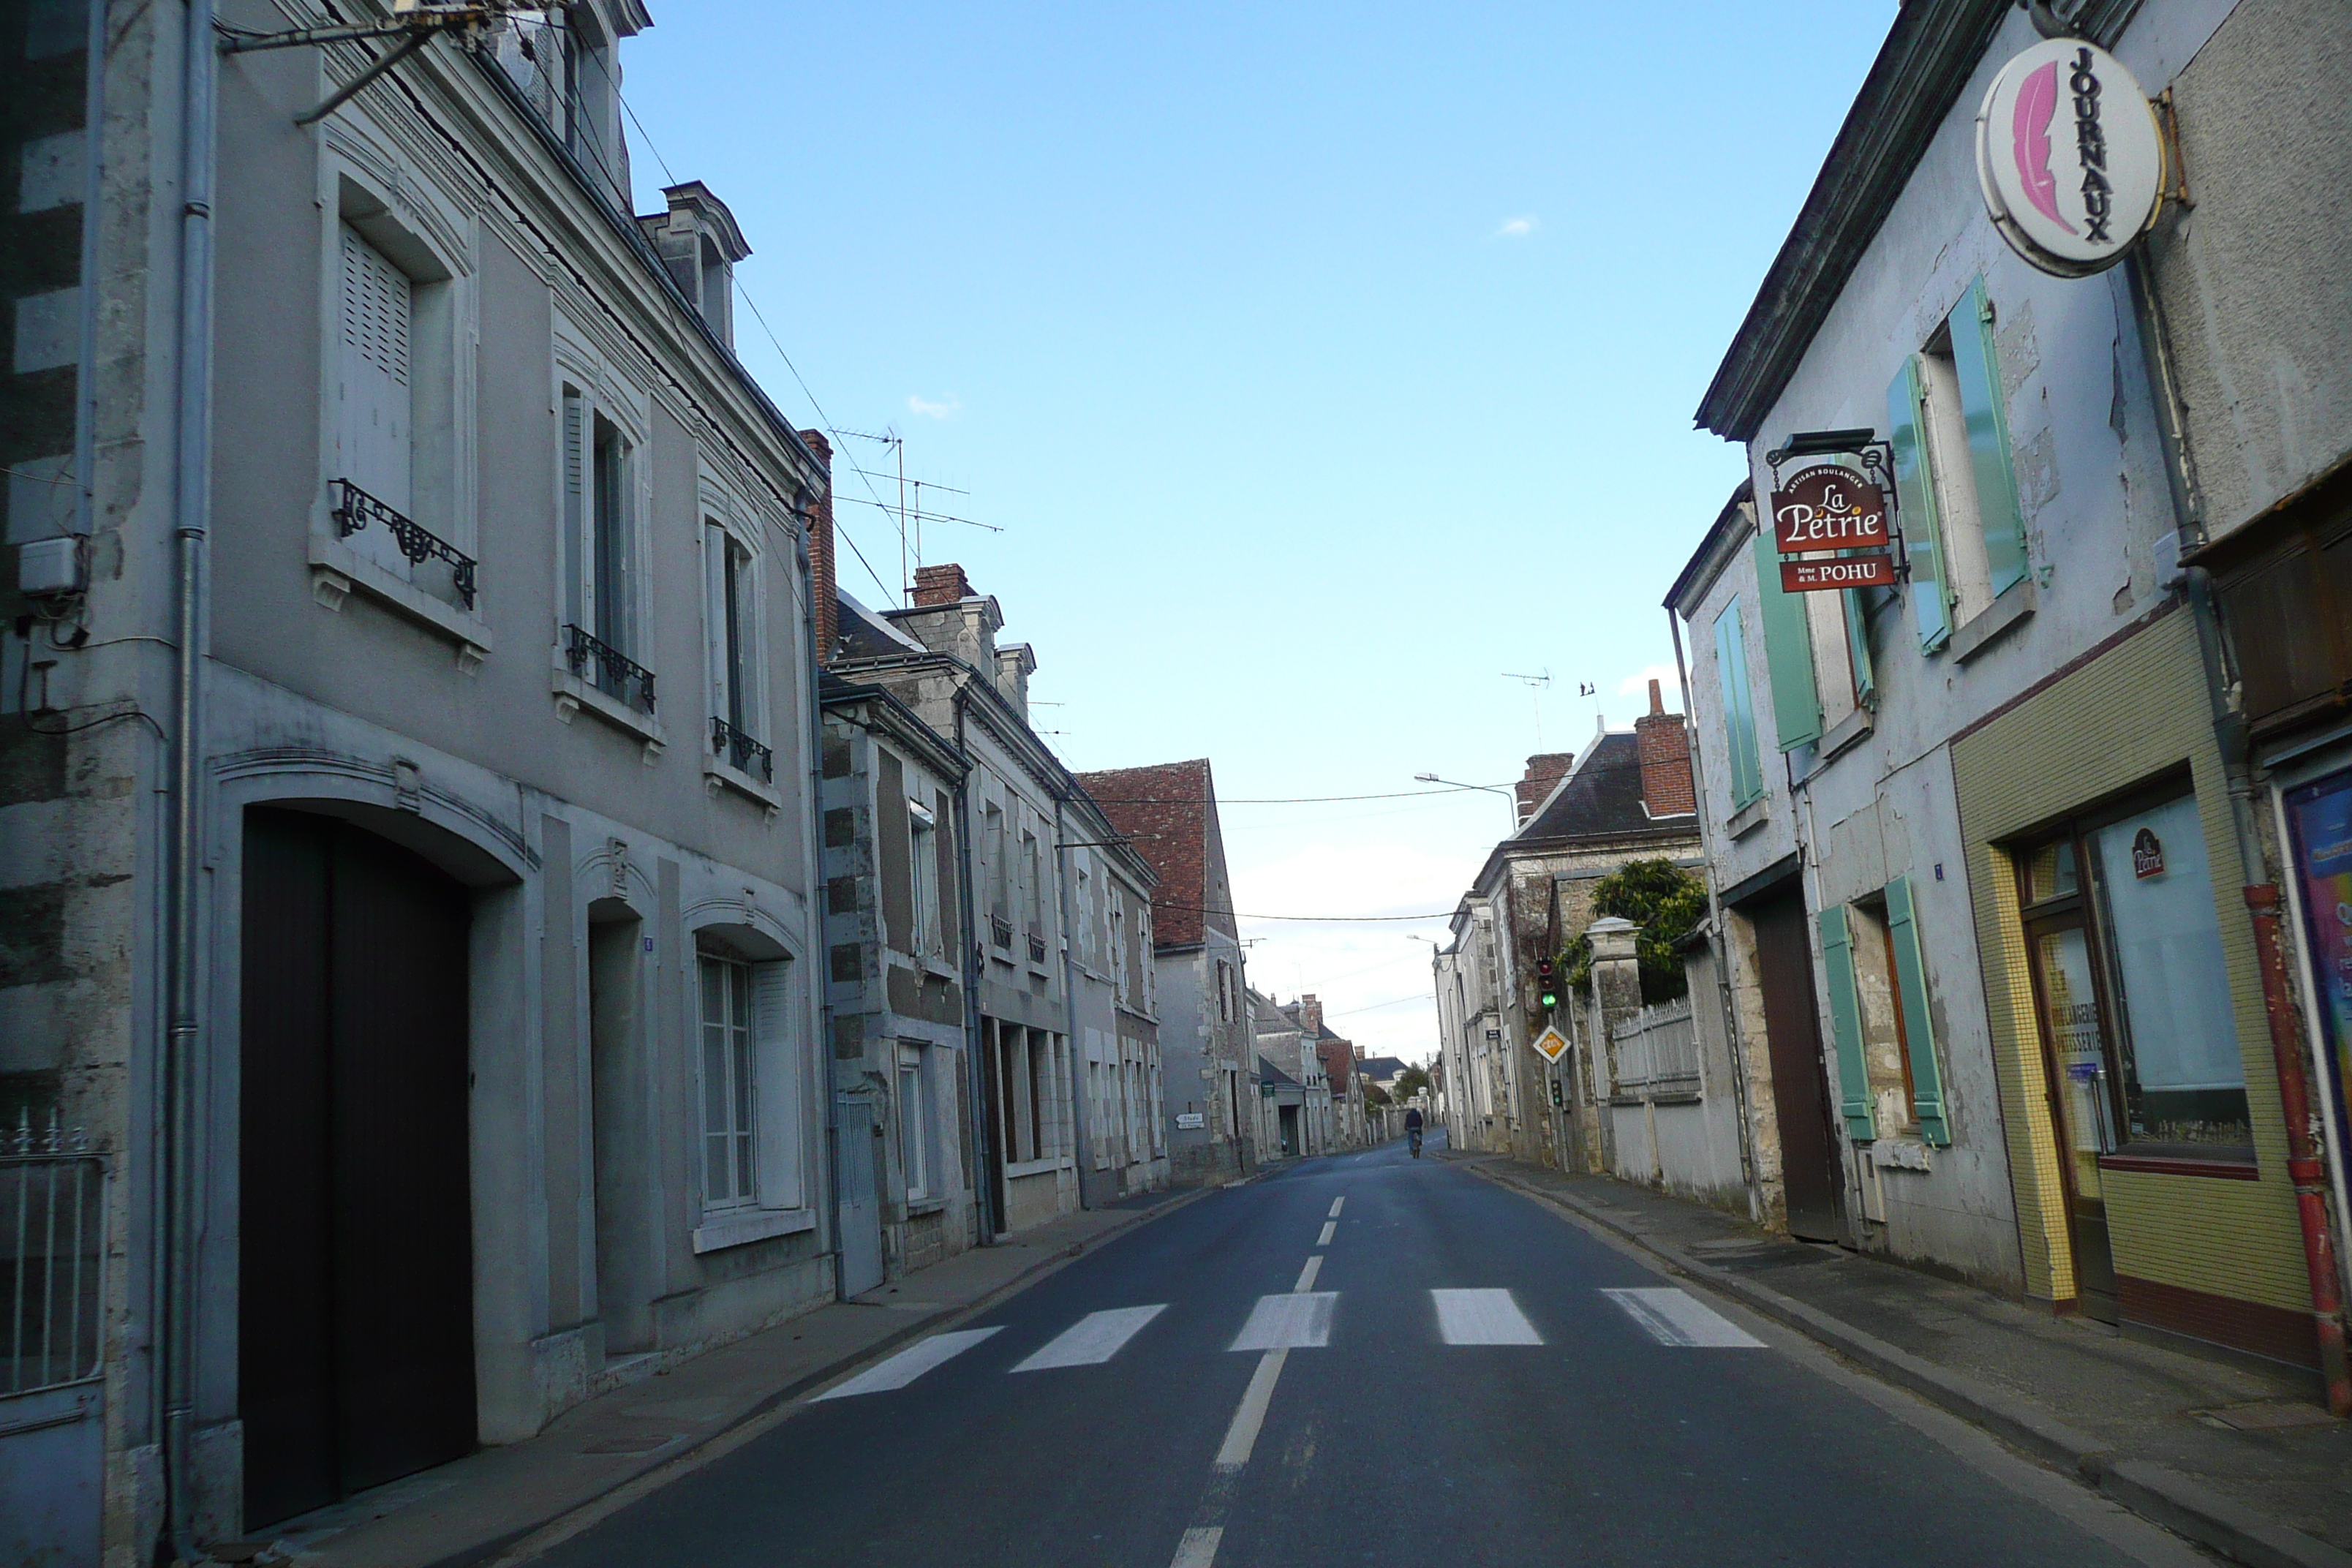
[[[2211,1486],[2192,1481],[2176,1469],[2147,1460],[2119,1458],[2110,1446],[2089,1432],[2079,1432],[2044,1410],[2002,1394],[1962,1373],[1945,1371],[1933,1361],[1910,1354],[1898,1345],[1863,1333],[1860,1328],[1830,1316],[1818,1307],[1780,1295],[1752,1279],[1740,1279],[1712,1262],[1700,1262],[1677,1246],[1646,1237],[1639,1227],[1625,1225],[1597,1208],[1590,1208],[1564,1192],[1545,1192],[1508,1171],[1486,1164],[1463,1161],[1472,1175],[1522,1192],[1538,1204],[1564,1208],[1581,1220],[1623,1237],[1672,1265],[1672,1272],[1705,1281],[1710,1291],[1722,1291],[1733,1300],[1776,1319],[1797,1333],[1828,1345],[1849,1361],[1858,1361],[1886,1382],[1919,1394],[1962,1420],[1985,1427],[2013,1448],[2023,1448],[2037,1460],[2072,1474],[2084,1486],[2096,1488],[2140,1519],[2154,1521],[2176,1535],[2185,1535],[2201,1547],[2220,1552],[2246,1568],[2352,1568],[2352,1554],[2338,1552],[2324,1540],[2263,1519],[2253,1509],[2223,1497]]]

